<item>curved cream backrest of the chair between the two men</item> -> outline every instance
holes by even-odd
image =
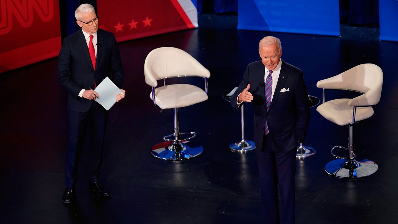
[[[160,47],[146,56],[144,75],[145,83],[156,87],[160,79],[182,76],[209,78],[210,72],[185,51],[175,47]]]

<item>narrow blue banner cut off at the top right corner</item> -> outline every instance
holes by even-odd
[[[398,1],[379,0],[380,40],[398,41]]]

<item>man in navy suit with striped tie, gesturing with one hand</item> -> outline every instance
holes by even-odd
[[[267,36],[259,42],[261,61],[250,63],[231,96],[235,108],[254,107],[254,141],[265,223],[295,223],[295,158],[304,142],[310,106],[303,73],[281,59],[281,41]],[[278,190],[282,214],[279,218]]]

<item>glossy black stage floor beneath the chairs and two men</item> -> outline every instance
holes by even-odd
[[[82,154],[77,200],[61,202],[66,150],[66,93],[57,83],[57,59],[1,74],[0,184],[2,223],[262,223],[256,153],[232,153],[240,140],[240,112],[222,94],[240,83],[246,65],[259,60],[258,41],[275,35],[282,58],[301,68],[308,94],[316,82],[362,63],[384,73],[373,117],[355,125],[357,157],[375,161],[363,179],[331,177],[330,149],[347,145],[348,127],[311,108],[305,145],[316,155],[297,159],[296,223],[397,223],[397,42],[378,40],[377,28],[341,26],[341,37],[236,29],[236,16],[199,16],[199,28],[119,44],[125,68],[125,100],[110,110],[102,169],[110,198],[88,191],[88,148]],[[173,130],[172,110],[160,111],[144,82],[143,65],[154,48],[172,46],[211,72],[209,100],[179,111],[181,131],[195,131],[204,151],[186,161],[152,157],[152,145]],[[202,84],[202,80],[199,84]],[[343,96],[345,93],[332,93]],[[331,96],[330,94],[329,96]],[[246,106],[246,139],[253,140],[253,110]]]

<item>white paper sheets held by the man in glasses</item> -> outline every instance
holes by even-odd
[[[94,91],[98,93],[99,97],[96,101],[101,104],[105,110],[109,110],[109,108],[115,104],[116,94],[123,94],[122,90],[120,90],[108,77],[103,79]]]

